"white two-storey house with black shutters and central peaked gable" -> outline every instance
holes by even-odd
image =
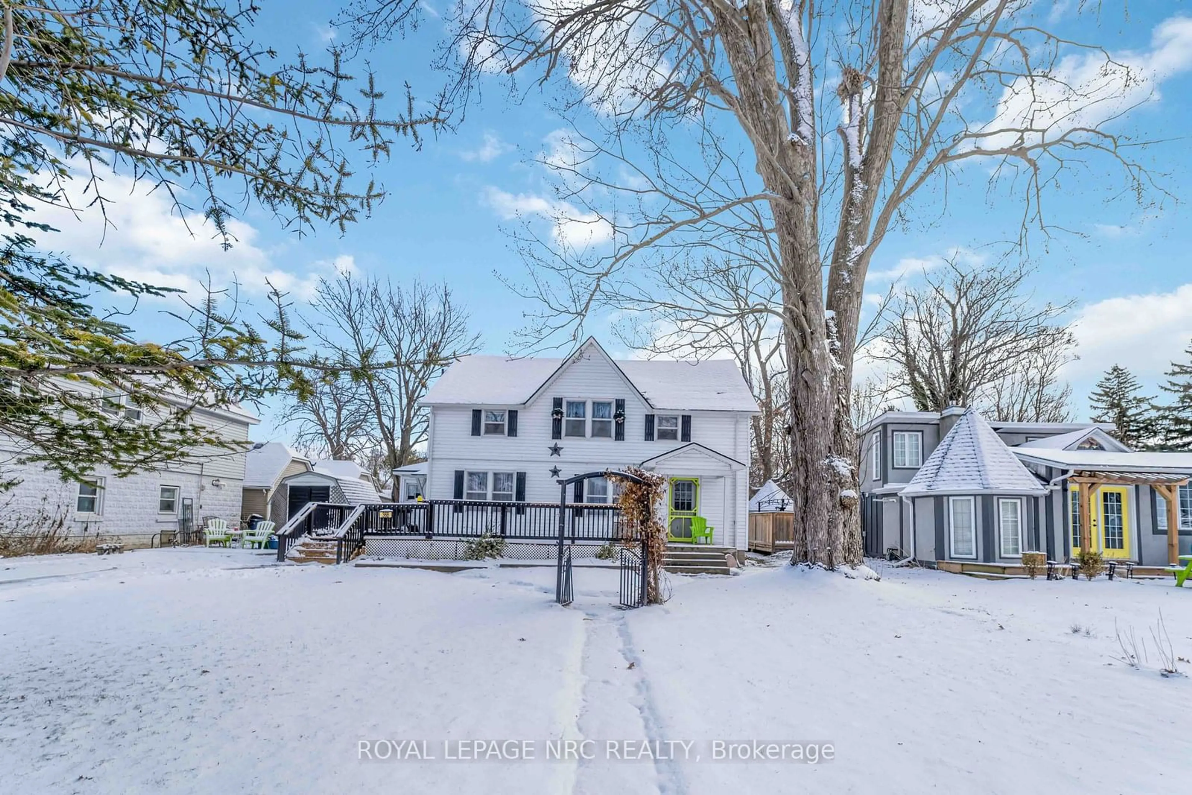
[[[565,359],[465,356],[422,405],[428,461],[397,472],[403,498],[558,504],[561,478],[640,466],[668,478],[672,539],[690,538],[700,516],[714,544],[747,547],[757,404],[732,361],[614,361],[589,339]],[[614,499],[603,478],[567,495]]]

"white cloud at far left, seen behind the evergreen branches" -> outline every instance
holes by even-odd
[[[267,281],[297,299],[312,294],[318,277],[337,267],[354,267],[352,257],[315,262],[305,267],[274,260],[280,254],[266,247],[250,224],[231,219],[228,230],[234,241],[224,250],[213,225],[199,212],[180,213],[164,191],[151,191],[118,174],[104,175],[107,224],[95,206],[93,194],[83,194],[83,179],[67,184],[67,194],[79,215],[62,207],[43,207],[37,219],[58,229],[39,235],[48,250],[67,254],[85,267],[161,287],[199,293],[210,274],[216,288],[240,285],[242,296],[262,296]]]

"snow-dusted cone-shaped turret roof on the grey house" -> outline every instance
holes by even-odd
[[[980,414],[969,409],[900,492],[914,495],[1045,495],[1047,487],[1006,447]]]

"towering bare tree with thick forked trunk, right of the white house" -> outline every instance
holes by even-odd
[[[358,36],[381,38],[404,2],[362,0],[348,23]],[[533,275],[529,285],[510,286],[542,306],[524,348],[566,334],[578,341],[598,311],[648,312],[677,328],[684,318],[703,328],[728,328],[741,315],[776,318],[790,434],[775,445],[790,452],[780,479],[801,530],[791,559],[859,563],[852,355],[869,262],[907,201],[975,157],[1024,178],[1010,188],[1023,195],[1024,235],[1026,225],[1045,229],[1041,195],[1069,161],[1107,157],[1140,195],[1148,190],[1146,170],[1126,160],[1119,137],[1098,129],[1107,119],[1074,122],[1106,99],[1107,85],[1128,85],[1129,67],[1099,50],[1105,69],[1097,80],[1072,74],[1064,64],[1079,45],[1016,19],[1030,6],[464,4],[451,49],[465,62],[458,85],[534,64],[542,85],[569,86],[560,111],[578,139],[563,156],[539,160],[559,178],[554,200],[538,205],[539,222],[548,219],[555,234],[528,222],[522,237]],[[821,75],[842,74],[828,87],[836,97],[818,104],[817,62]],[[1066,100],[1057,103],[1056,92]],[[839,114],[831,110],[837,100]],[[839,150],[820,145],[821,120],[837,124]],[[696,154],[673,147],[678,139]],[[1002,190],[1001,179],[991,178],[991,188]],[[560,234],[597,228],[602,237],[591,246]],[[714,281],[700,256],[708,251],[763,274],[772,293],[755,298],[743,278],[750,299],[708,300],[699,288]]]

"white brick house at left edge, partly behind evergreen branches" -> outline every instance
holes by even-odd
[[[130,416],[137,421],[139,412]],[[232,408],[197,409],[193,420],[219,436],[248,441],[255,416]],[[185,460],[117,478],[99,470],[83,483],[63,480],[37,464],[18,464],[19,448],[0,437],[0,472],[20,483],[0,493],[0,532],[36,532],[46,522],[62,522],[72,536],[101,535],[126,547],[149,546],[154,535],[175,530],[203,516],[238,521],[244,480],[244,451],[195,448]]]

